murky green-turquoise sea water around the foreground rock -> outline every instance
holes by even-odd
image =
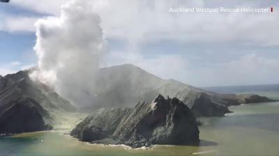
[[[88,144],[63,132],[33,132],[0,138],[0,155],[279,155],[278,102],[229,109],[234,113],[200,119],[204,123],[199,127],[201,146],[135,150]]]

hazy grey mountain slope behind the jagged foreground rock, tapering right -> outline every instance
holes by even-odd
[[[243,101],[242,96],[235,94],[207,92],[176,80],[163,80],[132,64],[100,69],[98,76],[93,109],[130,106],[137,101],[152,101],[158,94],[162,94],[179,98],[197,116],[223,116],[229,112],[229,105],[270,101],[268,98],[264,100],[262,96],[257,98],[261,98],[261,101],[253,98],[255,96],[246,96],[246,100]],[[251,101],[250,98],[254,100]]]

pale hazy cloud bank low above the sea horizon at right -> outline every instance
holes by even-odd
[[[279,59],[255,53],[211,67],[188,68],[183,82],[196,86],[276,84]]]

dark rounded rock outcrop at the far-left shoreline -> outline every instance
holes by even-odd
[[[49,114],[31,98],[16,99],[9,107],[1,107],[0,134],[50,130],[44,118]]]

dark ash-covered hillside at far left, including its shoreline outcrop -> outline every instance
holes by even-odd
[[[0,78],[0,133],[48,130],[59,111],[75,107],[46,85],[29,78],[29,71],[19,71]]]

